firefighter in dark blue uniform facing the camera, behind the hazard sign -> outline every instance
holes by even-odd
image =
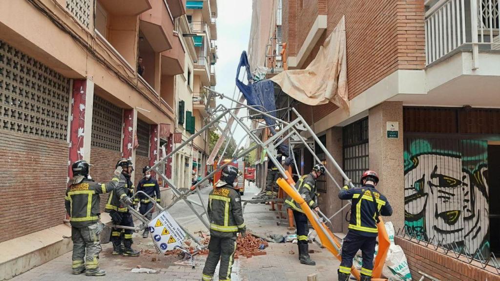
[[[161,197],[159,195],[159,185],[158,181],[151,177],[151,169],[150,166],[144,166],[142,168],[142,174],[144,174],[144,177],[139,180],[139,184],[137,185],[137,191],[142,191],[149,195],[149,197],[154,198],[156,200],[156,203],[159,204],[161,201]],[[135,203],[138,203],[140,201],[140,207],[139,207],[139,212],[140,214],[144,215],[148,210],[152,209],[154,207],[154,203],[151,202],[151,200],[145,196],[142,193],[139,193],[136,198],[134,198]],[[147,215],[146,218],[151,220],[153,210],[151,210]],[[142,233],[142,237],[147,238],[147,234],[149,233],[149,230],[144,228],[144,232]]]

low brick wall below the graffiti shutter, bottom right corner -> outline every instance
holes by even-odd
[[[394,242],[401,246],[408,259],[409,269],[413,280],[421,275],[418,271],[427,273],[440,280],[467,280],[467,281],[494,281],[500,280],[500,275],[492,266],[482,268],[481,264],[473,261],[469,264],[463,254],[457,259],[454,253],[445,254],[442,248],[433,245],[425,246],[425,242],[408,241],[401,237],[394,237]]]

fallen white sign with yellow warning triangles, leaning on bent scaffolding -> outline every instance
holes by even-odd
[[[153,237],[153,242],[162,253],[181,246],[186,236],[182,228],[166,210],[154,217],[147,226]]]

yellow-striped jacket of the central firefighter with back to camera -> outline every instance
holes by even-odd
[[[208,217],[210,234],[217,237],[232,237],[235,232],[245,231],[241,197],[230,184],[213,188],[208,195]]]

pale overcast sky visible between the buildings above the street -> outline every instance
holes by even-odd
[[[236,69],[241,51],[248,49],[250,37],[252,0],[217,0],[217,55],[215,74],[217,84],[215,90],[225,95],[238,99],[239,90],[235,89]],[[227,99],[216,99],[217,104],[222,103],[226,107],[231,105]],[[234,107],[234,106],[233,106]],[[246,110],[240,110],[239,116],[246,115]],[[236,123],[236,122],[234,122]],[[249,125],[249,122],[247,122]],[[225,123],[221,123],[224,127]],[[234,133],[236,143],[246,136],[241,127],[237,127]],[[246,140],[243,140],[244,145]]]

